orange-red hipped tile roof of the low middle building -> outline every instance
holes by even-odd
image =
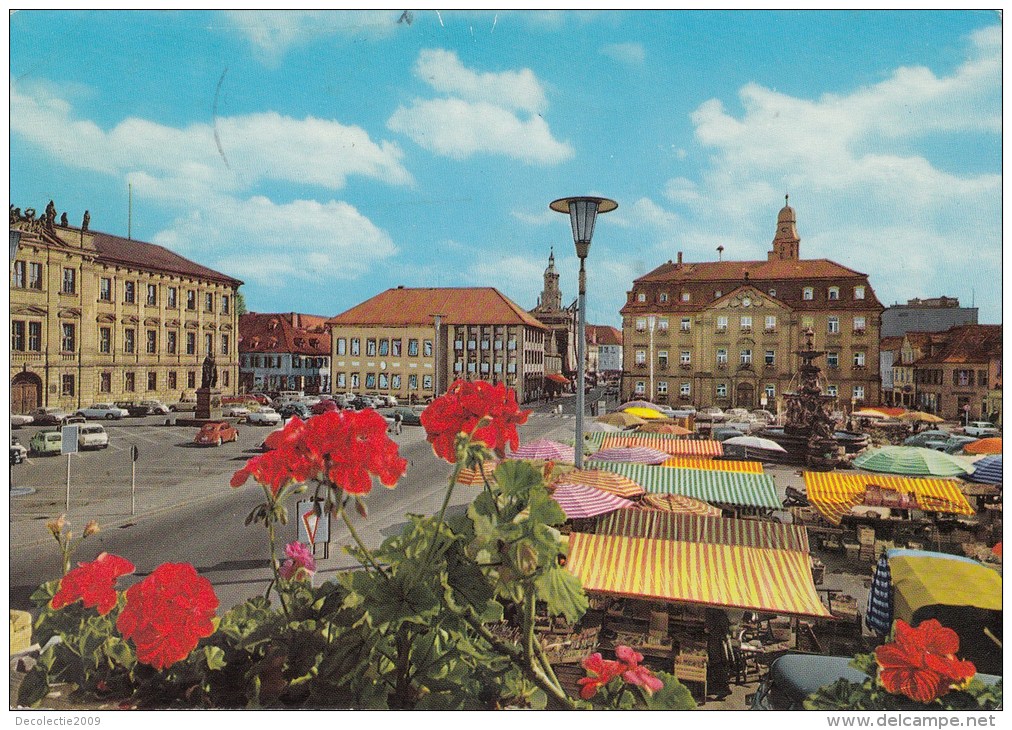
[[[343,325],[431,325],[432,315],[445,324],[524,324],[547,329],[492,287],[406,289],[377,294],[328,320]]]

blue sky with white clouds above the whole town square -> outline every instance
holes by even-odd
[[[398,285],[524,308],[549,202],[614,198],[588,319],[632,279],[804,257],[886,304],[1001,321],[1001,25],[958,12],[46,12],[10,19],[10,200],[165,245],[255,311],[333,315]]]

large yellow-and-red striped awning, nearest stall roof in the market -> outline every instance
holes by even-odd
[[[709,542],[693,540],[693,536],[707,540],[711,534]],[[592,593],[779,615],[829,616],[812,581],[806,550],[786,544],[754,547],[747,543],[737,525],[712,531],[707,526],[689,529],[676,540],[574,533],[569,538],[566,569]]]

